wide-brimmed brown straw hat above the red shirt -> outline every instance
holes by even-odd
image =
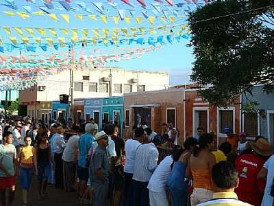
[[[260,138],[256,142],[250,142],[249,145],[259,155],[270,156],[274,154],[274,148],[266,139]]]

